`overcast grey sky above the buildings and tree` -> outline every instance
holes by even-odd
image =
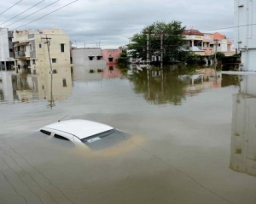
[[[73,44],[84,47],[85,42],[86,48],[96,48],[99,42],[102,48],[119,48],[129,42],[129,37],[157,20],[178,20],[187,29],[193,26],[196,30],[212,33],[218,31],[233,38],[233,29],[218,29],[233,26],[234,0],[78,0],[72,3],[73,1],[0,0],[0,27],[8,27],[9,30],[57,27],[66,31]],[[18,4],[10,8],[15,3]],[[37,3],[39,4],[33,7]],[[50,3],[53,4],[44,8]],[[61,8],[67,3],[72,4]],[[28,8],[31,9],[26,11]],[[58,8],[61,9],[53,12]],[[6,9],[8,10],[5,11]],[[42,10],[32,14],[39,9]],[[24,13],[20,14],[21,12]],[[53,13],[49,14],[50,12]],[[15,17],[18,14],[20,15]],[[29,14],[32,15],[25,18]],[[46,14],[49,15],[37,20]],[[9,21],[5,22],[7,20]],[[18,20],[20,21],[15,23]],[[33,20],[37,21],[32,22]]]

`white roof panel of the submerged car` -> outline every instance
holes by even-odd
[[[63,133],[70,133],[79,139],[88,138],[92,135],[103,133],[111,129],[113,129],[113,127],[104,125],[99,122],[91,122],[79,119],[55,122],[41,128],[41,130],[52,130],[52,133],[55,132],[54,130],[61,131]]]

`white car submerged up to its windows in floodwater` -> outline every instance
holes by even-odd
[[[102,149],[123,141],[124,134],[108,125],[87,120],[67,120],[55,122],[40,129],[41,133],[74,144],[86,144],[91,149]]]

